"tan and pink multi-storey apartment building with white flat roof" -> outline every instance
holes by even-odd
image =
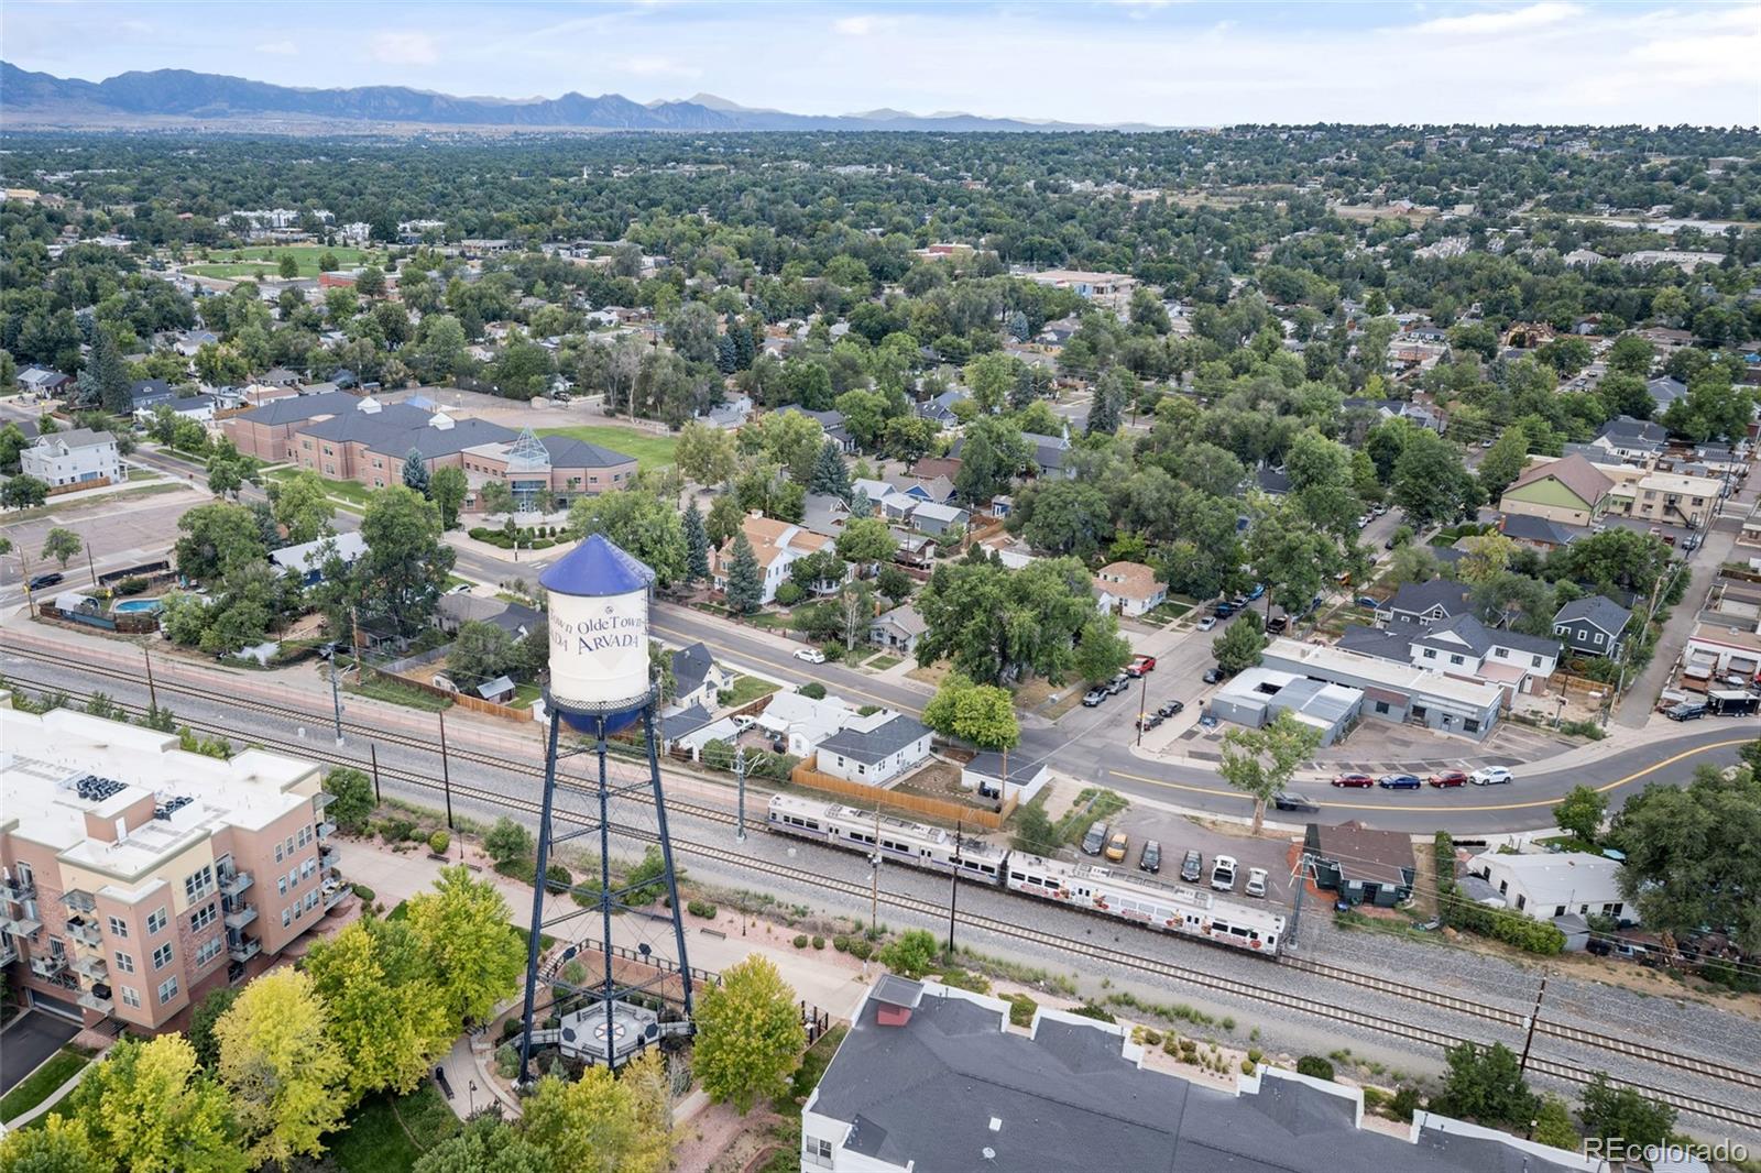
[[[28,1006],[162,1029],[349,888],[317,763],[0,694],[0,960]]]

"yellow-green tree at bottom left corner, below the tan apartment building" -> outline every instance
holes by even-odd
[[[106,1169],[243,1173],[234,1104],[180,1034],[122,1037],[65,1101]]]

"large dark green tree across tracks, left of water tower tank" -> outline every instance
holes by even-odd
[[[440,541],[440,511],[421,493],[389,484],[366,502],[361,539],[366,551],[352,574],[361,609],[398,631],[424,627],[454,558],[453,548]]]

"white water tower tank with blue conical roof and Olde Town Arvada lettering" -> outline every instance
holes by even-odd
[[[648,703],[652,583],[653,571],[599,534],[539,576],[549,597],[548,703],[565,720]]]

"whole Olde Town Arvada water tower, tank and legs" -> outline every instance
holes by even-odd
[[[659,694],[648,668],[653,572],[595,534],[544,571],[539,585],[549,599],[549,687],[544,692],[549,729],[539,882],[527,946],[521,1083],[530,1078],[535,1046],[555,1044],[572,1059],[616,1067],[666,1036],[690,1034],[692,1006],[655,745]],[[623,740],[616,752],[608,752],[608,740],[632,726],[639,726],[639,738]],[[590,773],[558,771],[562,761],[586,757]],[[637,886],[613,884],[615,837],[632,840],[637,849],[659,844],[660,875]],[[572,877],[571,886],[546,882],[555,849],[572,842],[597,851],[597,875]],[[666,893],[671,921],[648,909],[641,916],[618,918],[632,942],[616,944],[615,914],[652,905],[657,888]],[[574,907],[546,919],[546,889],[569,896]],[[548,930],[567,944],[541,967],[539,939]],[[597,941],[590,937],[593,930]],[[560,1023],[534,1030],[534,1018],[551,1013]]]

